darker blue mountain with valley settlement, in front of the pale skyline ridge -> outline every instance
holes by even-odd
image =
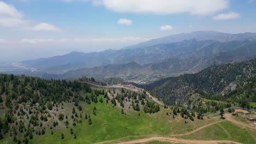
[[[184,40],[179,43],[122,50],[134,53],[132,62],[73,70],[61,75],[61,78],[121,77],[137,83],[150,82],[161,77],[197,73],[212,65],[246,61],[256,57],[255,47],[256,41],[248,40],[224,43]]]

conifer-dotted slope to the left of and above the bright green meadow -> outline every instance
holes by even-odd
[[[96,117],[98,110],[94,106],[89,111],[89,107],[97,103],[119,107],[120,115],[158,112],[159,105],[147,97],[143,91],[92,89],[77,81],[0,75],[0,139],[27,143],[34,136],[63,129],[70,129],[72,135],[76,125],[94,124],[92,115]],[[63,134],[60,138],[64,139]]]

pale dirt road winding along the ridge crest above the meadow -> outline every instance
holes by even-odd
[[[101,86],[101,85],[97,85],[96,83],[91,83],[91,82],[87,82],[87,81],[84,81],[83,83],[88,83],[91,86],[100,87],[100,88],[124,88],[124,89],[130,90],[130,91],[133,91],[133,92],[143,92],[143,91],[145,91],[142,88],[138,88],[138,87],[135,87],[135,86],[132,86],[132,85]],[[142,91],[141,91],[141,89],[142,89]],[[146,91],[146,93],[147,93],[147,95],[148,95],[148,97],[150,99],[155,101],[156,104],[164,106],[164,103],[162,103],[162,101],[160,101],[157,98],[153,97],[149,92]]]

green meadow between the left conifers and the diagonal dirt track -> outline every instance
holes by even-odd
[[[166,112],[171,112],[171,110],[163,109],[162,107],[160,112],[154,114],[144,113],[142,111],[125,111],[127,114],[122,115],[120,107],[113,107],[112,104],[106,104],[105,100],[103,103],[92,103],[91,105],[80,103],[80,105],[83,107],[83,123],[76,123],[77,126],[73,127],[73,121],[70,119],[73,105],[64,104],[64,109],[59,110],[59,113],[64,113],[65,116],[67,115],[69,117],[68,129],[65,128],[65,125],[59,123],[59,126],[53,129],[54,134],[51,135],[49,126],[45,126],[45,135],[34,135],[34,138],[29,141],[32,143],[94,143],[125,137],[124,139],[120,139],[120,141],[123,141],[139,139],[150,135],[168,136],[170,134],[187,133],[202,125],[216,121],[214,118],[204,119],[203,121],[195,118],[195,121],[191,122],[189,119],[179,118],[179,115],[173,119],[172,115],[166,116]],[[96,116],[92,115],[94,106],[97,108]],[[80,115],[78,110],[77,112]],[[90,113],[92,125],[89,125],[88,120],[84,118],[85,113]],[[140,116],[138,116],[138,113],[140,113]],[[54,119],[49,121],[54,121]],[[185,124],[185,121],[189,123]],[[77,139],[74,139],[74,136],[70,134],[70,128],[77,135]],[[61,139],[61,133],[65,136],[64,140]],[[18,137],[18,139],[22,140],[22,136]],[[13,137],[9,137],[9,139],[3,141],[11,142],[12,140]]]

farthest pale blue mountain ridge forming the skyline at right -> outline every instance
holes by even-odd
[[[157,44],[170,44],[176,43],[183,40],[195,39],[197,41],[203,40],[216,40],[220,42],[227,41],[237,41],[237,40],[255,40],[256,33],[239,33],[239,34],[229,34],[229,33],[220,33],[214,31],[197,31],[192,33],[181,33],[169,35],[163,38],[152,39],[143,43],[125,47],[124,49],[136,49],[141,47],[147,47]]]

